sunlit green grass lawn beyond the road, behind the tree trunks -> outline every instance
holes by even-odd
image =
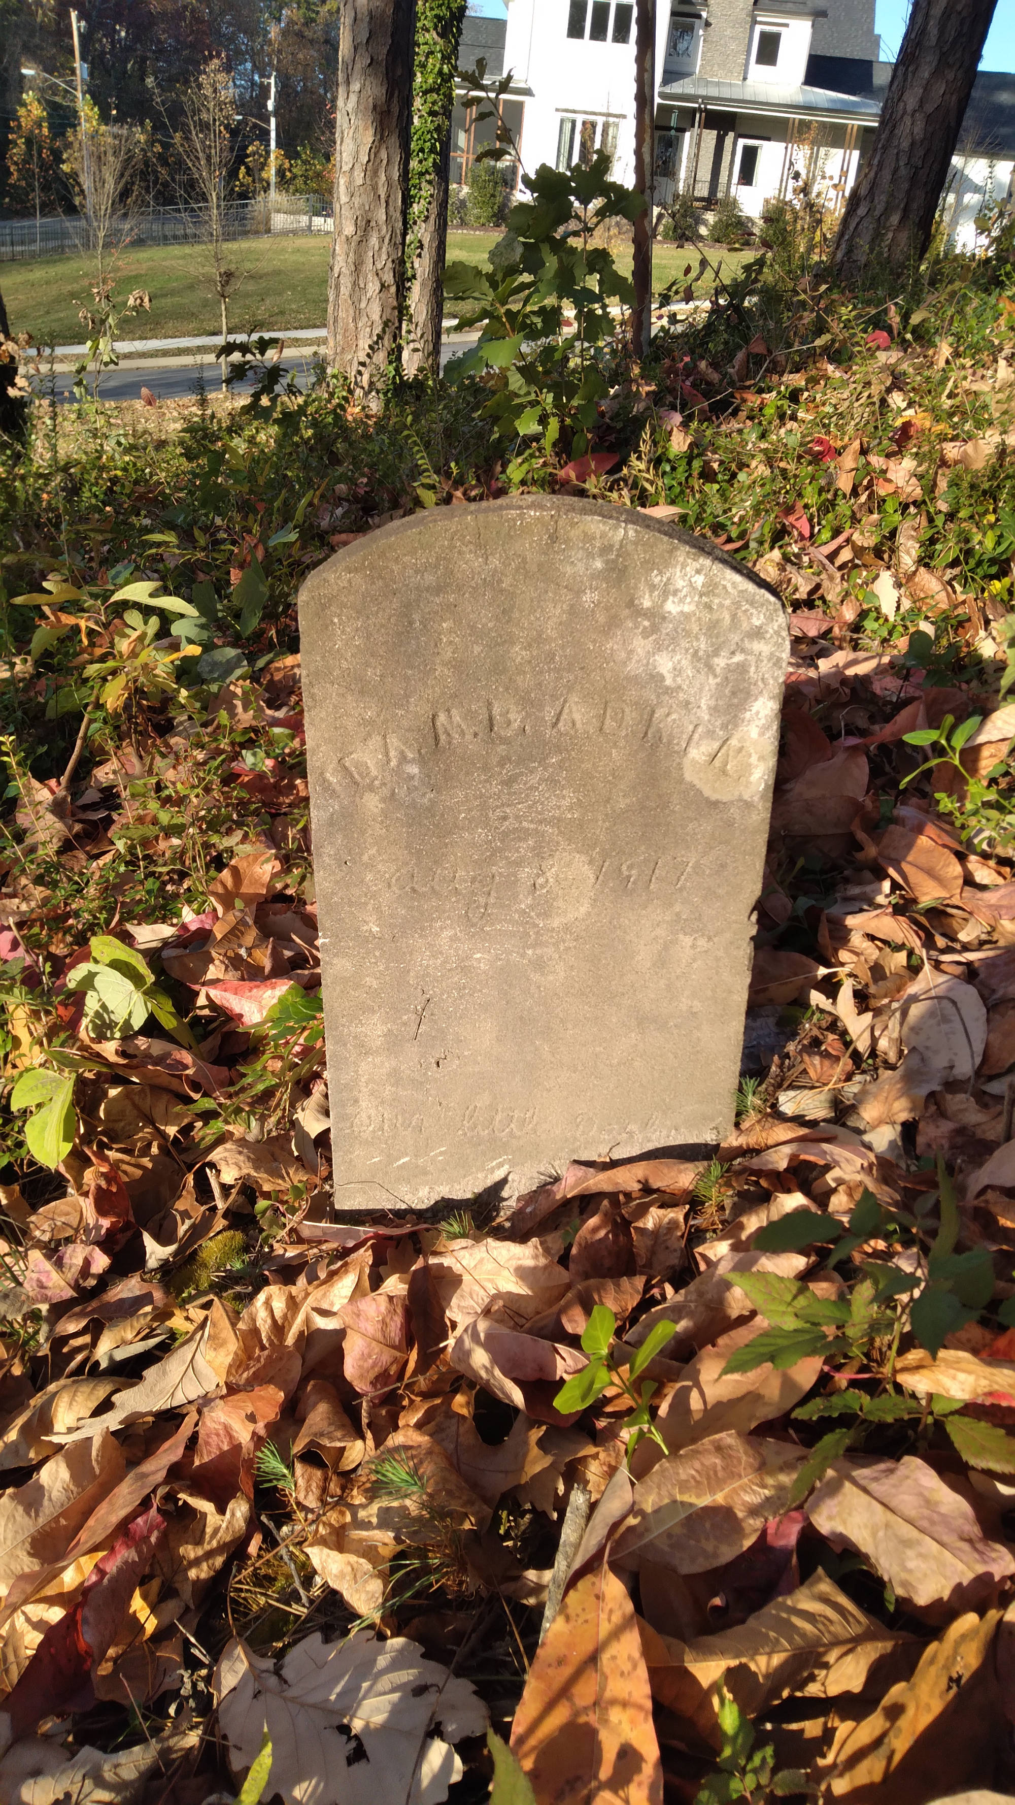
[[[245,238],[231,245],[243,282],[231,303],[231,329],[278,332],[321,327],[326,318],[328,253],[323,233],[308,238]],[[496,233],[449,233],[453,262],[485,264]],[[725,255],[736,267],[741,256]],[[631,271],[631,253],[620,251],[618,265]],[[694,253],[656,245],[654,285],[662,289],[681,274]],[[29,332],[41,345],[78,345],[85,329],[78,309],[90,300],[90,264],[78,256],[47,256],[27,264],[0,265],[0,289],[13,332]],[[126,249],[119,256],[119,292],[148,289],[151,312],[124,321],[121,338],[198,338],[218,330],[218,301],[211,285],[207,251],[202,245]]]

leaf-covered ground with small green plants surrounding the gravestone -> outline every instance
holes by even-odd
[[[0,1805],[231,1798],[265,1735],[299,1805],[1015,1780],[1015,307],[892,312],[674,352],[620,475],[543,473],[791,610],[709,1164],[337,1220],[299,655],[178,715],[186,634],[81,626],[108,552],[34,596],[36,706],[79,626],[133,699],[87,774],[13,765]],[[303,565],[418,498],[344,487]]]

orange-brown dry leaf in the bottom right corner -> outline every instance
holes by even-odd
[[[873,1717],[844,1726],[822,1763],[831,1798],[927,1805],[961,1787],[993,1783],[1004,1724],[990,1659],[999,1619],[999,1610],[959,1617]]]

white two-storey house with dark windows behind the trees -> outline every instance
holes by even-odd
[[[465,22],[460,65],[510,70],[501,117],[521,168],[557,168],[608,150],[635,175],[635,7],[631,0],[507,0],[507,25]],[[736,193],[759,217],[808,177],[829,206],[849,193],[878,125],[891,65],[880,61],[874,0],[660,0],[656,7],[656,200]],[[990,85],[995,85],[993,88]],[[1015,79],[981,76],[954,166],[954,229],[965,242],[984,197],[1015,170]],[[456,108],[453,180],[496,134]],[[514,166],[517,179],[517,164]]]

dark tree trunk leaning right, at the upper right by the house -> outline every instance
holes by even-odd
[[[878,135],[835,240],[840,280],[900,274],[925,255],[993,7],[914,0]]]

